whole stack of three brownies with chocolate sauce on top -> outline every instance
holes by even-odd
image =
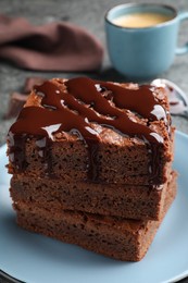
[[[8,135],[17,223],[138,261],[176,194],[165,89],[87,77],[36,86]]]

